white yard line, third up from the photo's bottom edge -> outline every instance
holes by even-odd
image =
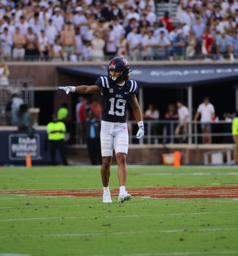
[[[71,219],[71,218],[134,218],[134,217],[158,217],[158,216],[176,216],[176,215],[200,215],[200,214],[227,214],[238,212],[193,212],[193,213],[170,213],[155,215],[118,215],[118,216],[75,216],[75,217],[49,217],[49,218],[16,218],[16,219],[0,219],[0,221],[35,221],[35,220],[51,220],[51,219]]]

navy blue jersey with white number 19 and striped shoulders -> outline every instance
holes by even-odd
[[[106,76],[100,76],[96,83],[103,88],[102,94],[102,120],[107,122],[126,122],[127,103],[137,93],[136,81],[127,80],[120,88]]]

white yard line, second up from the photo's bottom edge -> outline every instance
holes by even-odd
[[[0,239],[15,238],[15,237],[62,237],[62,236],[112,236],[112,235],[128,235],[128,234],[157,234],[157,233],[179,233],[179,232],[210,232],[210,231],[231,231],[238,228],[212,228],[212,229],[195,229],[195,230],[158,230],[158,231],[130,231],[130,232],[112,232],[112,233],[77,233],[77,234],[51,234],[51,235],[26,235],[26,236],[0,236]]]

